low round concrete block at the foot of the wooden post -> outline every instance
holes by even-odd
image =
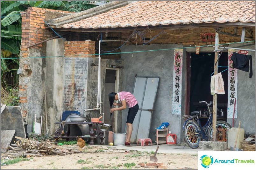
[[[227,150],[227,147],[227,142],[200,141],[198,148],[204,150],[224,151]]]

